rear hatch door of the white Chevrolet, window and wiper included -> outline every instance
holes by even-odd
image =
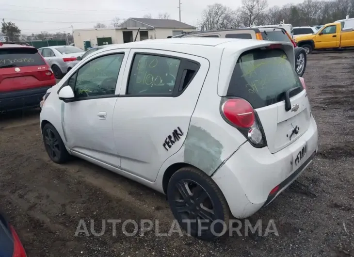
[[[293,50],[287,52],[291,53]],[[289,60],[287,54],[282,48],[257,48],[242,53],[227,92],[228,96],[244,98],[253,106],[272,153],[296,141],[310,123],[308,96],[290,63],[293,57]]]

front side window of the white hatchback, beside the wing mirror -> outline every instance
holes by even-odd
[[[68,80],[76,98],[114,95],[124,53],[98,57],[75,72]]]

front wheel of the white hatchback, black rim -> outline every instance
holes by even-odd
[[[64,163],[70,160],[70,154],[58,131],[50,123],[46,124],[42,129],[43,143],[50,160],[55,163]]]

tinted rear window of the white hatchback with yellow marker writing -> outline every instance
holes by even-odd
[[[254,49],[241,54],[237,61],[227,96],[237,96],[250,102],[253,108],[261,108],[284,100],[285,92],[303,88],[290,61],[281,49]]]

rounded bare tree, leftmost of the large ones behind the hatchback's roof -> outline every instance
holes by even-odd
[[[235,13],[220,3],[208,5],[202,12],[201,31],[229,29],[234,23]]]

